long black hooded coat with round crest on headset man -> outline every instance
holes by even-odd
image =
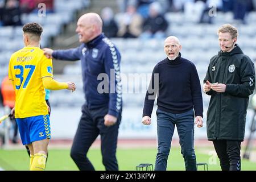
[[[226,85],[224,93],[212,89],[207,111],[208,140],[243,140],[249,96],[255,87],[254,63],[237,46],[230,52],[218,52],[210,59],[204,82]]]

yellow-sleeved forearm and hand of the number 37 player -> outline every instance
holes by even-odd
[[[59,82],[56,80],[53,80],[52,77],[43,77],[43,85],[44,88],[49,90],[61,90],[61,89],[68,89],[75,91],[76,85],[73,82]]]

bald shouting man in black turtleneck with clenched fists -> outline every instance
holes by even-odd
[[[158,154],[155,170],[165,171],[175,125],[180,138],[186,170],[196,170],[194,150],[194,115],[197,127],[203,126],[203,99],[195,65],[181,57],[179,39],[164,41],[167,58],[156,64],[147,90],[142,123],[151,124],[151,113],[158,93]],[[194,113],[195,110],[195,113]]]

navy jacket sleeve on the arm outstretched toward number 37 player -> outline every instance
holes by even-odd
[[[81,50],[81,46],[67,50],[56,50],[53,51],[52,57],[60,60],[76,61],[80,60],[80,57],[82,55]]]

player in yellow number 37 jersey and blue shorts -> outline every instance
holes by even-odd
[[[43,28],[38,23],[23,26],[25,47],[11,55],[9,79],[13,81],[15,118],[23,145],[30,148],[30,170],[44,170],[51,138],[45,90],[75,91],[73,82],[53,80],[52,60],[39,48]]]

